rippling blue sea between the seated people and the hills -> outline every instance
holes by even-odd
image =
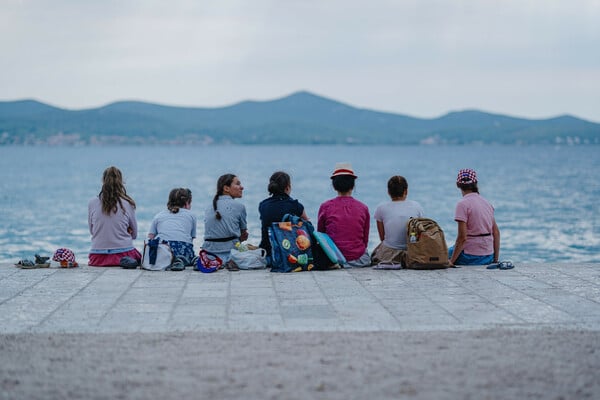
[[[0,262],[16,262],[58,247],[87,262],[87,203],[102,171],[118,166],[138,204],[141,249],[150,221],[165,208],[173,187],[193,192],[192,211],[203,214],[216,179],[237,174],[245,187],[251,243],[260,241],[258,203],[276,170],[292,175],[292,196],[316,221],[319,205],[334,196],[329,175],[349,161],[359,176],[354,196],[369,206],[387,200],[387,179],[404,175],[409,198],[439,222],[452,243],[454,185],[460,168],[474,168],[480,192],[496,208],[501,258],[516,262],[600,262],[600,152],[597,146],[214,146],[214,147],[0,147]],[[369,249],[378,243],[374,221]]]

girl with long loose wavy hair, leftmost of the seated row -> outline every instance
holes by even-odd
[[[102,175],[102,190],[88,203],[88,225],[92,248],[91,266],[119,266],[122,257],[140,261],[133,247],[137,238],[135,201],[127,194],[123,175],[117,167],[108,167]]]

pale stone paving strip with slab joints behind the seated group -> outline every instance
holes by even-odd
[[[600,330],[599,264],[150,272],[0,265],[0,334]]]

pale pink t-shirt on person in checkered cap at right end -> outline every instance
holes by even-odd
[[[467,240],[463,251],[474,256],[494,253],[494,207],[479,193],[469,193],[456,205],[455,221],[467,224]],[[480,236],[488,234],[487,236]]]

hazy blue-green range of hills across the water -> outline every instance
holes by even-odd
[[[482,111],[414,118],[298,92],[271,101],[190,108],[123,101],[65,110],[0,102],[7,144],[600,144],[600,124],[572,116],[524,119]]]

